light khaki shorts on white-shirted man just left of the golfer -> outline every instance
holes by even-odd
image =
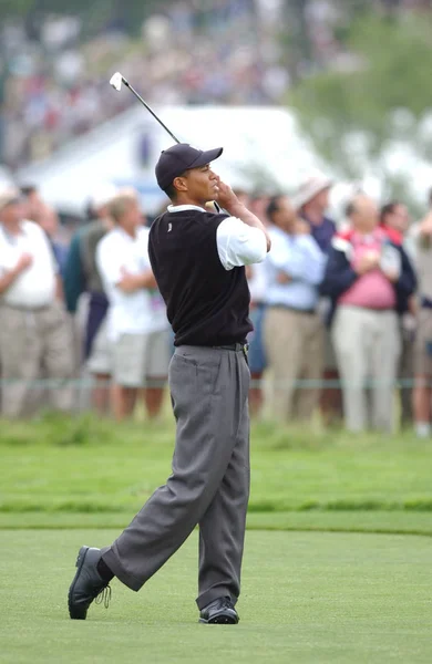
[[[166,378],[171,355],[167,330],[122,334],[113,344],[114,382],[124,387],[144,387],[152,378]]]

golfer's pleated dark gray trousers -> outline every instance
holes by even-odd
[[[112,572],[132,590],[198,525],[198,608],[219,596],[237,601],[250,478],[249,380],[243,351],[176,349],[169,365],[173,473],[103,550]]]

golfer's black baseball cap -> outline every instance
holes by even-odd
[[[166,189],[173,180],[189,168],[198,168],[220,157],[223,147],[196,149],[188,143],[177,143],[161,153],[155,173],[161,189]]]

